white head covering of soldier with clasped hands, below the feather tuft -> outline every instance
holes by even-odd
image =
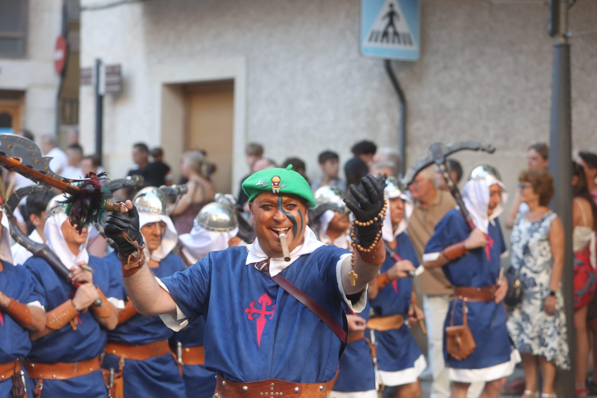
[[[82,243],[81,246],[79,246],[79,254],[75,256],[67,246],[66,240],[64,240],[64,235],[62,234],[61,227],[64,222],[70,221],[63,211],[48,217],[44,226],[45,244],[50,247],[50,250],[56,253],[62,264],[64,264],[64,267],[69,270],[72,267],[76,267],[79,262],[89,264],[89,253],[87,253],[89,233],[87,233],[87,240],[85,240],[85,243]]]

